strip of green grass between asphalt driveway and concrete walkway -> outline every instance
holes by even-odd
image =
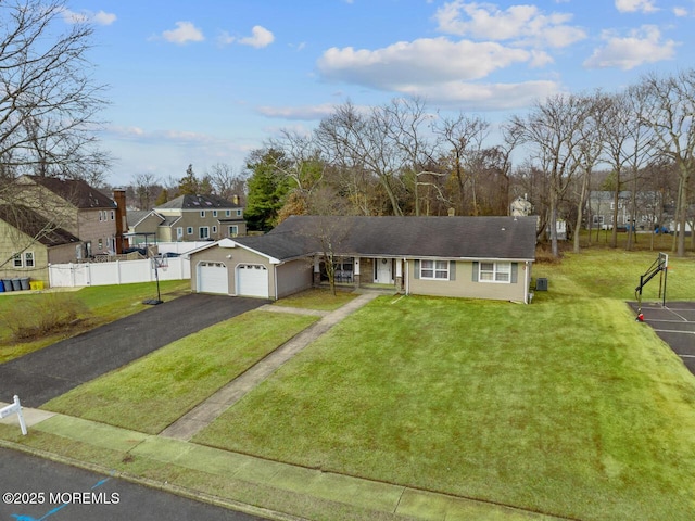
[[[83,384],[43,408],[156,434],[315,320],[250,312]]]

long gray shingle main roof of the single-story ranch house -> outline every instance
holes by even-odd
[[[323,251],[341,255],[535,258],[535,217],[292,216],[269,233],[235,239],[277,259]]]

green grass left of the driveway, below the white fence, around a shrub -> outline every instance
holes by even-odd
[[[190,281],[162,281],[160,282],[160,291],[163,301],[170,301],[190,292]],[[156,285],[153,282],[100,285],[83,288],[77,291],[66,291],[65,293],[70,293],[68,296],[84,308],[84,313],[80,313],[78,320],[70,327],[51,334],[22,342],[13,339],[10,328],[7,327],[8,320],[13,319],[13,313],[23,306],[55,305],[55,301],[60,300],[63,292],[7,293],[0,296],[0,364],[41,350],[60,340],[74,336],[98,326],[141,312],[148,307],[142,304],[143,300],[156,297]]]

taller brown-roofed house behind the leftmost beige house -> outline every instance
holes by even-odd
[[[74,259],[119,253],[118,205],[83,180],[21,176],[22,202],[84,243]]]

